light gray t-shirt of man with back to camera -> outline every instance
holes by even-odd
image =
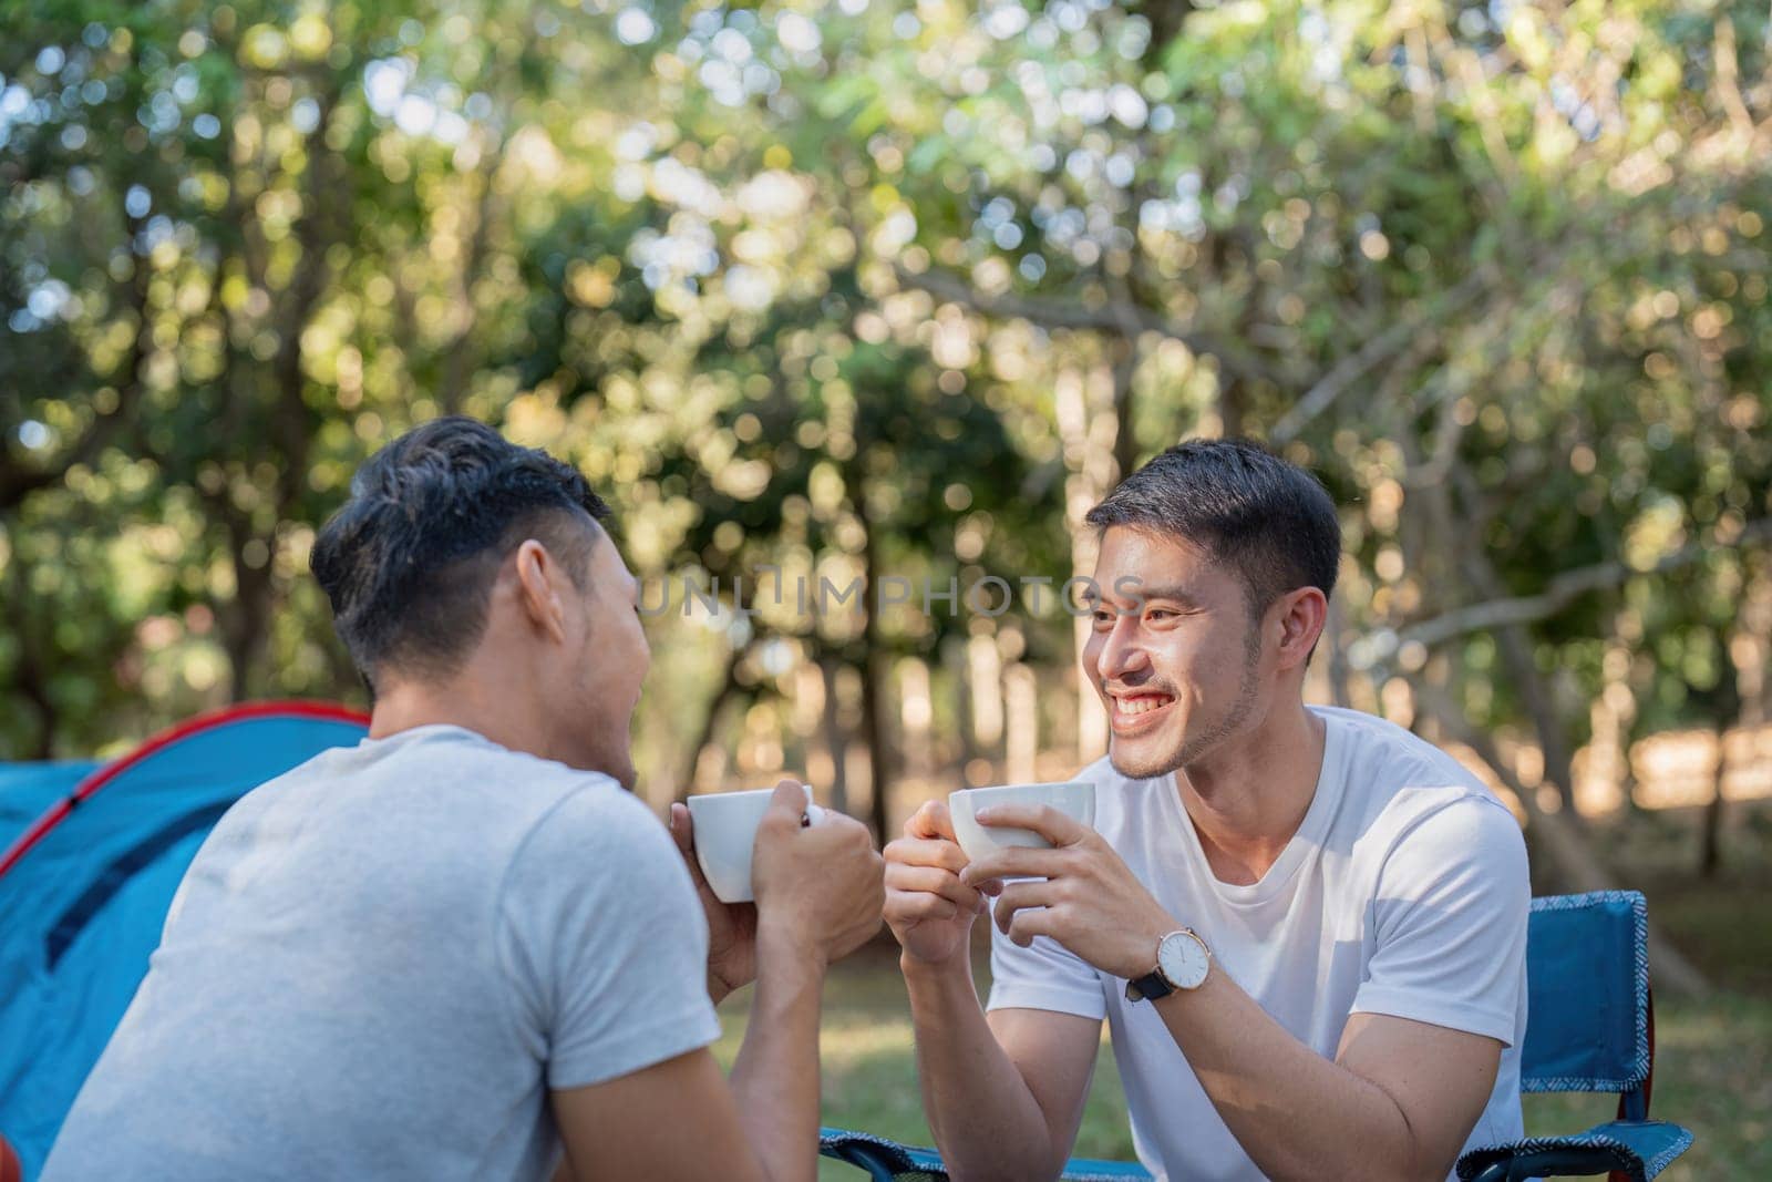
[[[718,1037],[707,920],[645,805],[418,727],[222,819],[41,1182],[546,1178],[549,1088]]]

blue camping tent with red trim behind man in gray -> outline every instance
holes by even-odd
[[[211,826],[266,780],[358,743],[365,723],[335,705],[264,702],[193,719],[97,769],[0,767],[0,842],[11,842],[0,852],[0,1134],[27,1178],[147,973]]]

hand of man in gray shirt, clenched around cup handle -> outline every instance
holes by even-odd
[[[884,863],[854,817],[826,810],[804,826],[804,815],[806,789],[778,783],[751,854],[758,930],[829,964],[879,930]]]

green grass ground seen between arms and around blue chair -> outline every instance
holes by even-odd
[[[1756,923],[1737,934],[1753,946],[1763,941],[1763,929],[1765,920],[1756,916]],[[980,971],[978,980],[987,975]],[[727,1065],[744,1037],[748,1003],[750,992],[742,991],[721,1007],[727,1031],[716,1054]],[[1772,999],[1724,992],[1703,1003],[1660,1001],[1655,1019],[1653,1115],[1698,1136],[1662,1177],[1669,1182],[1772,1178]],[[865,1129],[911,1145],[932,1143],[916,1088],[911,1010],[895,948],[870,946],[833,969],[824,991],[820,1049],[826,1125]],[[1533,1134],[1574,1132],[1613,1115],[1614,1104],[1605,1097],[1526,1097],[1526,1125]],[[1125,1099],[1106,1042],[1076,1154],[1132,1157]],[[836,1163],[824,1166],[820,1177],[833,1182],[861,1177]]]

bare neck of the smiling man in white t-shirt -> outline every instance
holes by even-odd
[[[1175,773],[1182,806],[1221,881],[1258,883],[1279,859],[1317,796],[1324,734],[1324,721],[1294,698]]]

